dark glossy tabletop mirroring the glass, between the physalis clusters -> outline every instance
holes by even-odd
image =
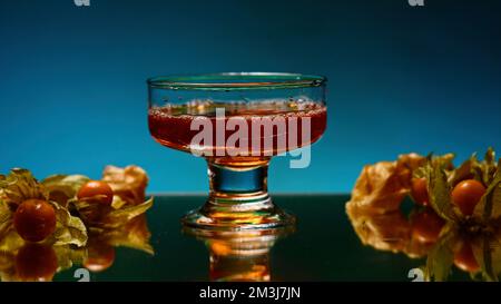
[[[275,195],[294,213],[294,232],[278,235],[210,236],[183,232],[179,218],[206,196],[156,195],[147,213],[154,254],[117,247],[114,263],[90,281],[412,281],[425,257],[376,251],[362,244],[350,223],[348,195]],[[53,281],[78,281],[78,268]],[[76,273],[77,271],[77,273]],[[456,268],[449,280],[470,280]]]

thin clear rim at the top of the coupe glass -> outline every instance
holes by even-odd
[[[150,88],[186,90],[248,90],[322,87],[327,78],[294,72],[216,72],[158,76],[147,79]]]

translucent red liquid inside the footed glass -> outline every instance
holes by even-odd
[[[225,109],[225,118],[216,119],[216,108]],[[248,161],[253,158],[277,155],[284,151],[301,148],[318,140],[326,128],[326,107],[316,102],[294,102],[294,101],[273,101],[273,102],[249,102],[249,104],[212,104],[212,102],[189,102],[183,106],[153,107],[148,112],[149,130],[151,136],[161,145],[191,151],[193,138],[202,131],[200,129],[191,130],[190,126],[197,117],[205,117],[210,120],[213,138],[212,143],[204,143],[204,151],[210,153],[213,157],[229,157],[234,160],[240,159]],[[228,156],[230,147],[227,147],[226,140],[238,130],[227,129],[227,122],[230,118],[238,118],[245,121],[247,130],[245,131],[244,143],[247,140],[247,155]],[[263,119],[264,118],[264,119]],[[261,119],[261,131],[253,131],[253,124],[256,119]],[[303,125],[303,120],[310,120],[310,124]],[[217,121],[224,121],[223,130],[217,128]],[[273,126],[272,121],[285,122],[284,128]],[[306,122],[306,121],[305,121]],[[296,128],[294,128],[296,125]],[[307,126],[310,125],[310,128]],[[303,127],[305,126],[305,127]],[[265,134],[268,127],[271,133]],[[244,129],[245,130],[245,129]],[[219,131],[219,134],[217,134]],[[308,131],[310,137],[303,138]],[[293,133],[293,134],[291,134]],[[224,141],[217,141],[224,135]],[[295,138],[291,140],[292,138]],[[285,138],[286,145],[281,138]],[[253,141],[254,140],[254,141]],[[253,143],[261,141],[258,151],[253,147]],[[239,147],[238,141],[236,147]],[[273,145],[269,145],[272,143]],[[282,145],[281,145],[282,144]],[[256,155],[256,153],[258,155]]]

